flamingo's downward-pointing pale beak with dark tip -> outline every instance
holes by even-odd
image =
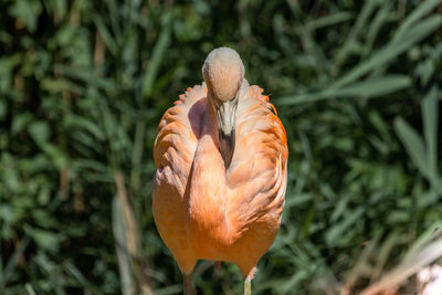
[[[235,147],[235,115],[238,98],[217,104],[218,136],[225,169],[229,168]]]

